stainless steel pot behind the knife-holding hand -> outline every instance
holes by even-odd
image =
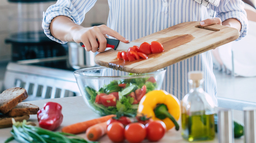
[[[96,53],[92,51],[85,51],[84,47],[81,47],[80,44],[75,42],[68,42],[69,47],[69,64],[74,69],[81,69],[87,67],[98,66],[94,62],[94,57]]]

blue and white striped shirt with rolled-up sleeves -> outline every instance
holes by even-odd
[[[42,27],[45,34],[52,40],[66,43],[50,34],[51,20],[56,16],[64,15],[74,23],[81,24],[85,19],[85,13],[94,6],[95,2],[96,0],[58,0],[43,14]],[[110,10],[107,26],[129,41],[183,22],[205,20],[210,18],[211,10],[214,10],[216,17],[222,21],[236,18],[241,22],[239,39],[247,32],[246,12],[241,0],[221,0],[218,7],[210,5],[210,8],[194,0],[108,0],[108,3]],[[203,88],[212,97],[215,105],[218,105],[210,51],[166,67],[162,89],[181,100],[188,93],[187,73],[195,70],[204,72]]]

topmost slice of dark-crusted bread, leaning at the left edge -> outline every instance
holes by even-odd
[[[0,112],[7,113],[27,97],[27,91],[21,87],[14,87],[3,91],[0,94]]]

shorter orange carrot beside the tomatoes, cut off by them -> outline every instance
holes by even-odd
[[[107,134],[107,122],[97,123],[86,130],[86,137],[92,141],[96,141],[105,134]]]

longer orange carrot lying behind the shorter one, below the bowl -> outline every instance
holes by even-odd
[[[97,119],[87,120],[84,122],[68,125],[62,128],[62,132],[70,133],[70,134],[82,133],[82,132],[85,132],[90,126],[95,125],[97,123],[105,122],[115,116],[116,115],[107,115]]]

